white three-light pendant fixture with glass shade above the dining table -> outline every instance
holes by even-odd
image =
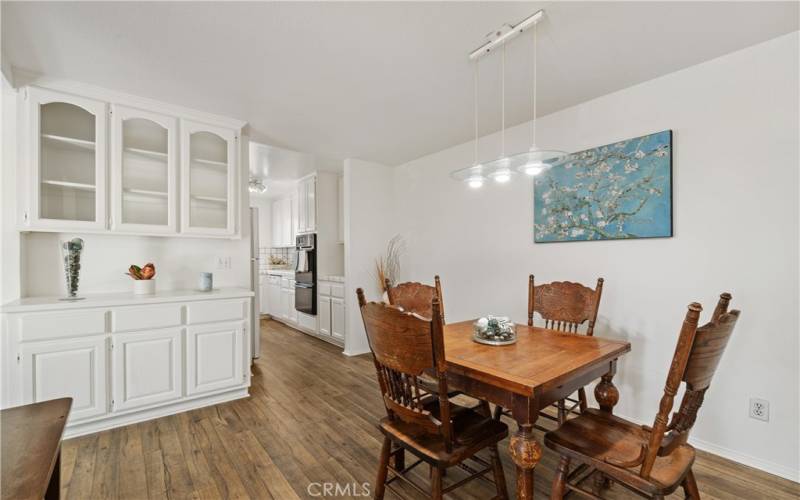
[[[528,175],[537,175],[544,169],[549,168],[559,161],[566,158],[567,153],[557,150],[540,149],[536,146],[536,99],[537,99],[537,56],[538,56],[538,40],[536,33],[536,25],[544,16],[544,11],[540,10],[533,15],[522,20],[515,26],[503,25],[500,29],[493,33],[493,37],[475,49],[469,54],[470,60],[475,64],[475,157],[473,164],[470,167],[456,170],[450,176],[456,180],[466,182],[472,188],[479,188],[483,185],[484,181],[493,179],[498,183],[506,183],[511,180],[511,177],[517,172],[523,172]],[[528,151],[519,153],[512,156],[505,154],[505,65],[506,65],[506,44],[518,36],[519,34],[533,27],[533,120],[531,122],[532,129],[532,146]],[[493,161],[481,164],[478,162],[478,60],[495,49],[501,50],[501,93],[500,93],[500,115],[501,115],[501,129],[500,129],[500,156]]]

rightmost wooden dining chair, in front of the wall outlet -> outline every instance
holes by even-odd
[[[565,490],[599,498],[580,482],[597,472],[606,479],[649,498],[663,498],[682,486],[686,498],[698,500],[692,463],[694,448],[687,443],[689,431],[717,369],[722,353],[739,319],[739,311],[728,312],[731,295],[720,295],[711,321],[698,328],[702,307],[689,304],[669,375],[652,427],[640,426],[616,417],[610,411],[589,409],[545,435],[545,443],[561,455],[550,498],[560,499]],[[681,382],[686,392],[680,408],[672,414]],[[570,462],[580,465],[572,473]]]

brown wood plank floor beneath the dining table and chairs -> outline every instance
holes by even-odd
[[[338,498],[363,497],[368,483],[371,497],[381,447],[375,423],[384,411],[371,359],[348,358],[274,321],[262,321],[261,345],[250,398],[66,441],[64,497],[319,498],[312,494],[322,490],[308,486],[326,482],[349,485],[349,494],[332,495]],[[507,446],[501,443],[501,454],[514,491]],[[536,469],[537,498],[549,495],[556,459],[546,450]],[[427,471],[418,470],[425,483]],[[704,498],[800,497],[797,483],[707,453],[699,453],[694,470]],[[445,484],[460,477],[451,469]],[[386,498],[420,498],[398,488]],[[493,494],[492,485],[477,481],[447,498]],[[620,486],[606,496],[632,497]]]

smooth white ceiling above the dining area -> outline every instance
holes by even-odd
[[[262,143],[399,164],[472,136],[483,35],[546,9],[539,115],[798,29],[797,2],[2,3],[12,66],[247,120]],[[507,122],[531,117],[529,41]],[[481,63],[481,132],[499,65]]]

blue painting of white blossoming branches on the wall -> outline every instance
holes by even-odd
[[[570,154],[533,200],[537,243],[672,236],[672,131]]]

